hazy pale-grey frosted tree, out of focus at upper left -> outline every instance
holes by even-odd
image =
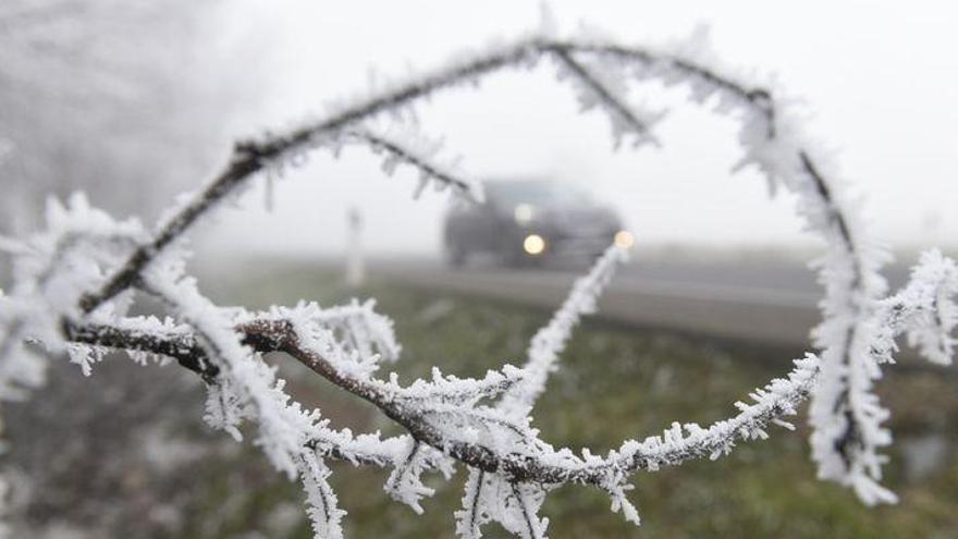
[[[0,2],[0,232],[79,188],[152,215],[211,164],[245,91],[208,46],[222,4]]]

